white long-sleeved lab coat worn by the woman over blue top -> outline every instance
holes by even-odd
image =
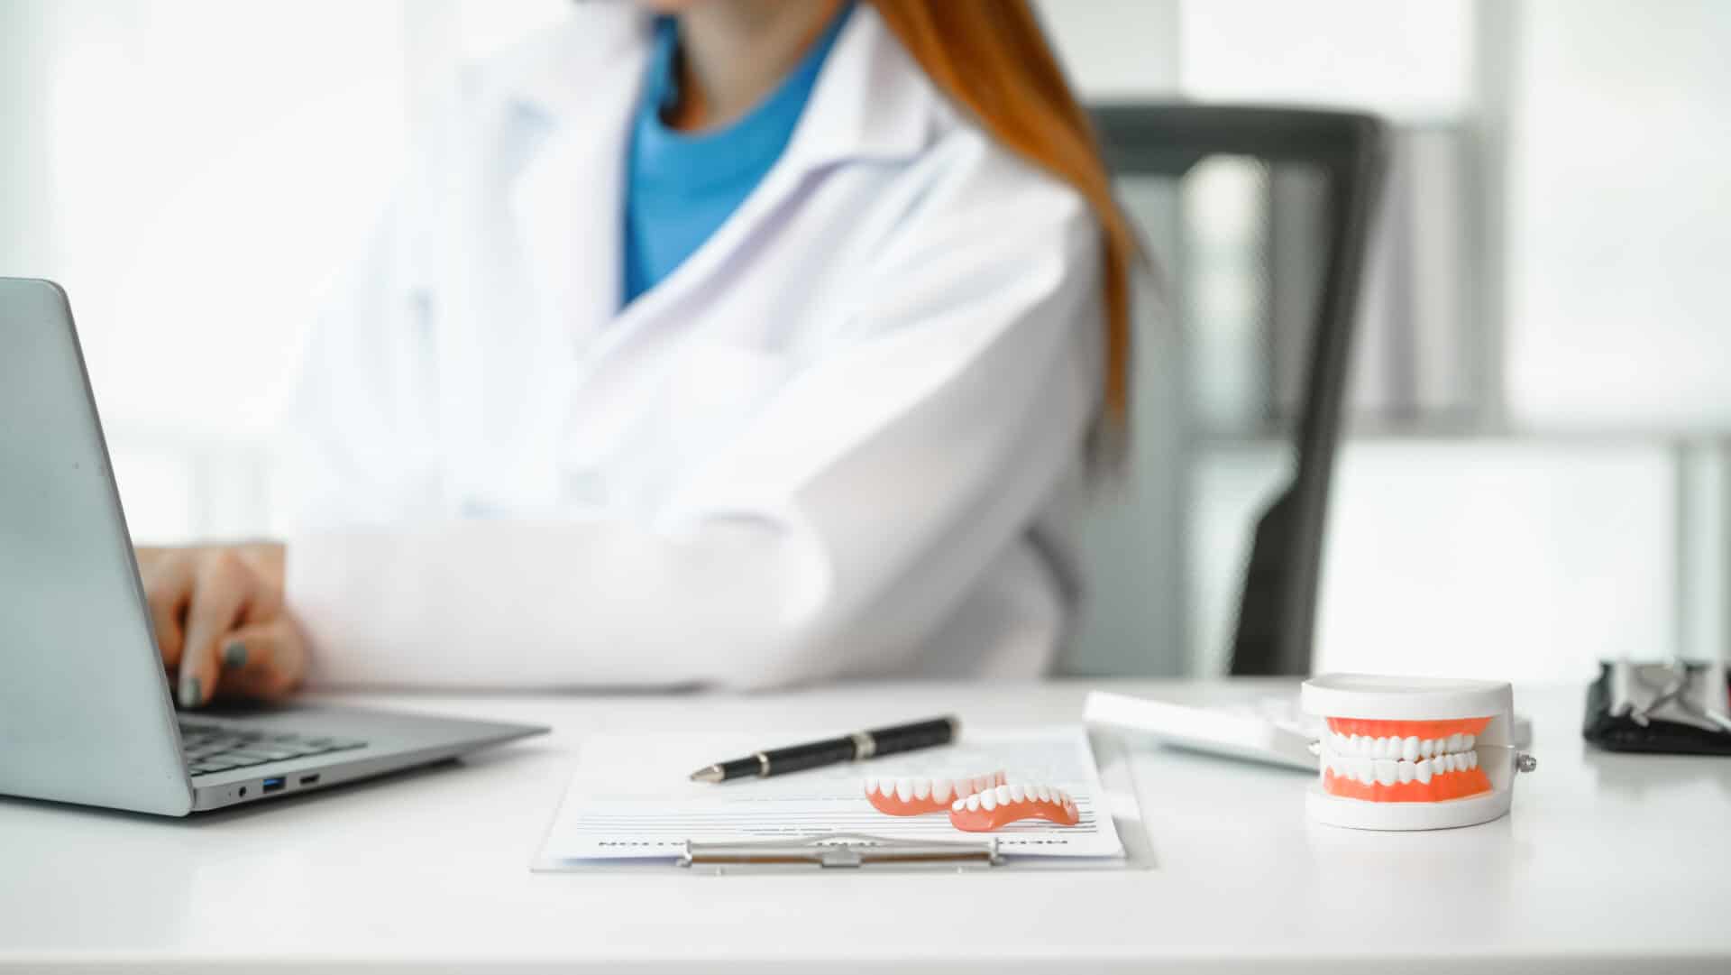
[[[649,21],[471,73],[308,341],[315,684],[1035,675],[1099,402],[1099,229],[860,5],[774,170],[620,310]]]

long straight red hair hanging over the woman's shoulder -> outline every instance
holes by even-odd
[[[1130,263],[1141,253],[1118,208],[1094,125],[1070,92],[1026,0],[872,0],[931,81],[1023,159],[1070,184],[1101,225],[1106,419],[1130,407]]]

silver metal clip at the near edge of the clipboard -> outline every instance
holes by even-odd
[[[871,836],[866,833],[819,833],[798,840],[760,840],[750,843],[692,843],[679,866],[687,868],[781,868],[815,866],[819,869],[857,869],[866,866],[890,868],[950,868],[975,869],[1004,862],[997,852],[997,838],[981,842],[907,842]]]

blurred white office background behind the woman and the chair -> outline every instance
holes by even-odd
[[[280,528],[270,428],[324,282],[454,71],[564,10],[0,0],[0,274],[71,291],[138,540]],[[1092,102],[1395,126],[1317,668],[1573,679],[1601,656],[1726,653],[1731,3],[1040,10]],[[1123,196],[1184,327],[1142,345],[1156,391],[1132,476],[1092,514],[1096,597],[1066,667],[1219,674],[1248,526],[1290,464],[1303,343],[1265,279],[1303,260],[1279,244],[1303,187],[1227,159]]]

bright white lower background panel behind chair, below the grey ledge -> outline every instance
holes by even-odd
[[[1224,672],[1245,526],[1283,449],[1217,445],[1194,468],[1193,663]],[[1586,677],[1676,644],[1667,447],[1499,438],[1345,443],[1317,613],[1317,670]]]

